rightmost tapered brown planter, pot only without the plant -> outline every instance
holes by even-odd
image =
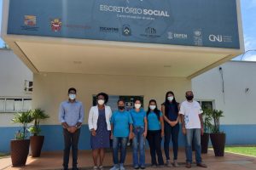
[[[210,138],[215,156],[224,156],[224,147],[226,143],[225,133],[211,133]]]

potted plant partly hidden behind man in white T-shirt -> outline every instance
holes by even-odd
[[[203,108],[204,133],[201,136],[201,153],[207,154],[210,132],[212,129],[212,109]]]

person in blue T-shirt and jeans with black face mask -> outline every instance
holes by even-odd
[[[131,114],[125,111],[125,101],[119,99],[118,111],[111,117],[111,138],[113,139],[113,167],[110,170],[125,170],[126,145],[133,138]],[[120,150],[120,156],[119,156]]]

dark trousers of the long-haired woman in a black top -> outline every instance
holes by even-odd
[[[172,137],[173,160],[177,160],[178,132],[179,132],[179,124],[172,127],[170,124],[165,122],[164,148],[165,148],[166,160],[170,160],[169,144],[170,144],[170,141],[171,141],[171,137]]]

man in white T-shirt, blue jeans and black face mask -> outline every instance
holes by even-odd
[[[192,140],[195,141],[195,161],[198,167],[207,167],[201,161],[201,135],[204,133],[201,105],[193,100],[192,91],[186,92],[186,101],[180,106],[179,114],[186,139],[186,167],[190,168],[192,163]]]

